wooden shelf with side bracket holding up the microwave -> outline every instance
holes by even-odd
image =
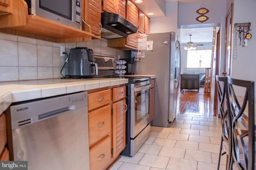
[[[86,23],[83,23],[83,30],[80,30],[36,15],[28,15],[28,5],[24,0],[9,0],[9,2],[12,14],[0,15],[2,33],[56,43],[91,41],[94,37]]]

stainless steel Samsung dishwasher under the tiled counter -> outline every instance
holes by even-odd
[[[10,160],[28,170],[90,169],[87,92],[12,104],[6,119]]]

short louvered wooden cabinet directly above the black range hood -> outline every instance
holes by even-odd
[[[126,18],[126,0],[103,0],[102,10],[105,12],[119,14]]]

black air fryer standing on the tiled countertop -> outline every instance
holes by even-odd
[[[92,49],[86,47],[70,49],[66,64],[66,77],[93,78],[98,75],[98,65],[94,61]]]

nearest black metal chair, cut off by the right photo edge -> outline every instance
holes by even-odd
[[[230,169],[254,170],[254,82],[228,77],[228,96],[233,116]]]

